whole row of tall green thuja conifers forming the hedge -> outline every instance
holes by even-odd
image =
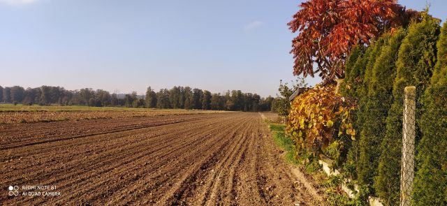
[[[445,27],[440,37],[439,21],[425,13],[407,29],[386,34],[367,48],[354,47],[346,61],[341,91],[358,100],[353,119],[360,137],[344,169],[386,205],[399,203],[403,91],[410,85],[417,87],[416,143],[422,138],[413,204],[447,205]]]

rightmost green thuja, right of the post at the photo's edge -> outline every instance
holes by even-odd
[[[424,94],[413,205],[447,205],[447,23],[437,49],[437,64]]]

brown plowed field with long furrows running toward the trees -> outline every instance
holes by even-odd
[[[0,205],[321,205],[258,113],[3,124],[0,152]]]

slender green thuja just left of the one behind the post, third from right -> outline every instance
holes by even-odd
[[[393,36],[383,36],[386,45],[381,47],[379,56],[374,62],[372,75],[367,85],[365,111],[360,131],[359,180],[362,184],[373,185],[381,154],[380,145],[386,127],[388,110],[393,103],[393,81],[395,78],[395,61],[397,53],[406,36],[404,29],[397,30]]]

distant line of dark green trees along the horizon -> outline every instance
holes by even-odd
[[[173,87],[154,91],[147,88],[144,97],[134,91],[119,98],[102,89],[85,88],[66,90],[64,87],[42,86],[24,89],[20,86],[1,87],[0,103],[22,103],[24,105],[86,105],[92,107],[127,108],[173,108],[187,110],[232,110],[244,112],[270,111],[274,98],[261,98],[258,94],[243,93],[240,90],[227,91],[225,94],[212,94],[191,87]]]

